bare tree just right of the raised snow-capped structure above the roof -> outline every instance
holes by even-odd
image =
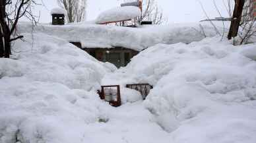
[[[143,13],[141,14],[140,22],[143,20],[150,20],[153,24],[162,24],[166,22],[162,9],[158,7],[155,0],[144,0],[143,1]]]

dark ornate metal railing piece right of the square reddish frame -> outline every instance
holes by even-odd
[[[144,87],[143,87],[144,86]],[[148,88],[149,90],[148,90]],[[146,99],[146,96],[148,96],[150,90],[153,88],[150,84],[126,84],[126,88],[131,88],[133,90],[137,90],[141,92],[141,96],[143,96],[143,100]]]

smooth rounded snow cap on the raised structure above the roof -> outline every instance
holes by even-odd
[[[139,7],[117,7],[100,13],[98,18],[96,18],[96,24],[130,20],[137,16],[141,16],[141,10]]]

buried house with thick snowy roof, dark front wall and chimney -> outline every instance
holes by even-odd
[[[58,14],[65,18],[65,12],[57,9],[51,13],[53,20],[57,20],[57,24],[38,24],[34,30],[40,34],[48,35],[49,40],[51,36],[63,40],[62,43],[55,44],[73,43],[98,61],[110,62],[116,67],[124,67],[140,51],[159,43],[191,43],[203,40],[205,35],[207,37],[216,36],[214,28],[207,24],[203,25],[204,35],[201,34],[200,26],[197,23],[149,25],[137,28],[112,24],[106,26],[105,24],[96,24],[96,21],[63,24],[63,18],[55,18]],[[18,31],[30,33],[28,27],[31,26],[29,22],[20,22]],[[154,60],[148,61],[148,63],[150,62],[154,62]]]

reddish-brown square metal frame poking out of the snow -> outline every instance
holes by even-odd
[[[120,94],[120,86],[119,85],[111,85],[111,86],[102,86],[102,90],[98,90],[98,94],[100,95],[101,100],[105,100],[105,91],[104,88],[117,88],[117,101],[109,101],[110,105],[113,107],[118,107],[121,105],[121,94]]]

